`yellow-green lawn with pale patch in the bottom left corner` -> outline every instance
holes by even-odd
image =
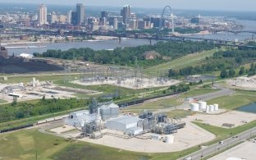
[[[36,130],[21,130],[7,135],[0,135],[1,159],[34,160],[51,159],[50,156],[70,145],[65,139],[45,135]]]

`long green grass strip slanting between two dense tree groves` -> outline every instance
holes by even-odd
[[[194,53],[185,57],[178,58],[171,62],[162,63],[158,66],[152,66],[144,70],[144,73],[147,75],[159,75],[159,71],[168,70],[168,69],[181,69],[185,66],[197,66],[200,62],[203,61],[205,57],[213,56],[213,53],[216,52],[216,49],[210,51],[204,51],[202,53]]]

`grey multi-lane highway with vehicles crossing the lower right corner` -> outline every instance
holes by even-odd
[[[203,148],[195,153],[191,153],[190,155],[186,156],[182,159],[190,159],[190,160],[197,160],[202,159],[204,157],[207,157],[208,155],[211,155],[213,153],[217,153],[218,151],[221,151],[223,149],[230,149],[232,145],[237,144],[239,142],[243,142],[246,139],[251,138],[252,136],[256,135],[256,127],[246,130],[238,135],[233,135],[231,138],[223,140],[223,144],[220,144],[219,142],[217,144],[213,144],[211,146],[208,146],[206,148]]]

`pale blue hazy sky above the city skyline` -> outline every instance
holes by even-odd
[[[167,5],[173,9],[222,10],[222,11],[256,11],[256,0],[0,0],[0,2],[44,3],[75,5],[82,2],[88,6],[163,8]]]

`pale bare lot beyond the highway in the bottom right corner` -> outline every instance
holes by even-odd
[[[253,142],[245,142],[243,144],[239,144],[232,149],[225,151],[224,153],[220,153],[213,158],[209,158],[209,160],[226,160],[228,158],[233,158],[235,160],[246,159],[246,160],[255,160],[256,159],[256,143]]]

